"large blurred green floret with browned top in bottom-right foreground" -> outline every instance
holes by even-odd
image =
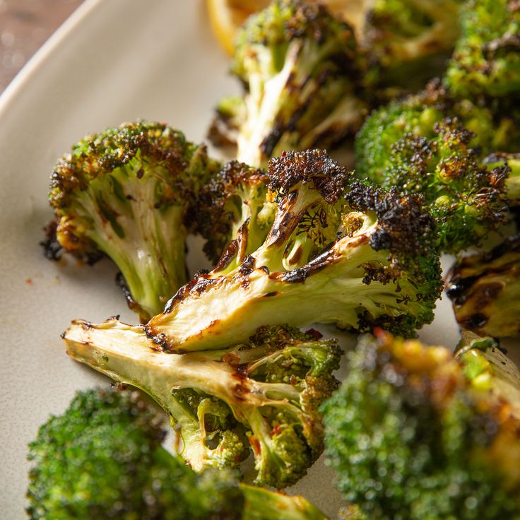
[[[490,338],[454,360],[379,333],[324,405],[345,500],[370,519],[520,518],[520,374]]]

